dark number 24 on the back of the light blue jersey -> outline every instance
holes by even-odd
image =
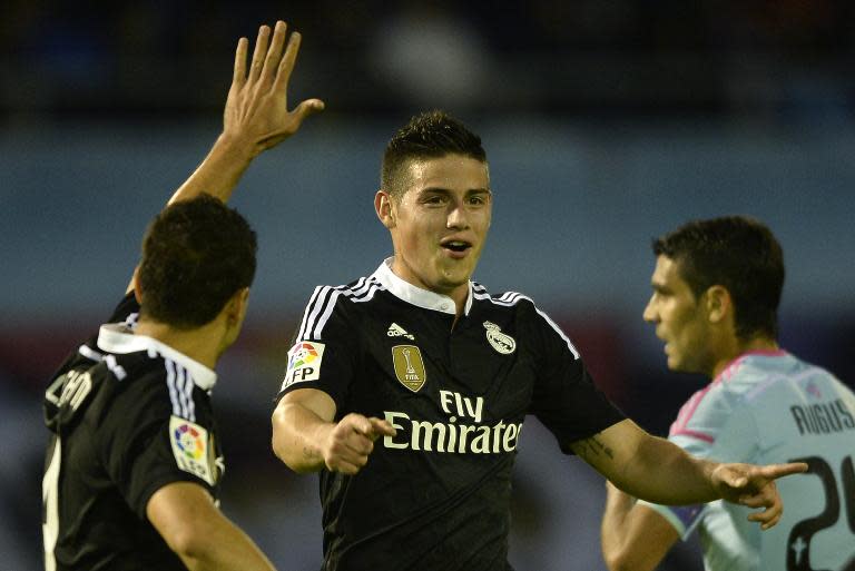
[[[841,516],[841,496],[837,493],[834,471],[828,462],[819,456],[799,457],[790,462],[807,462],[806,473],[816,474],[823,483],[825,494],[823,513],[796,523],[787,540],[787,571],[814,571],[810,567],[810,539],[837,523]],[[844,457],[841,463],[841,481],[846,521],[849,531],[855,535],[855,469],[853,469],[852,456]]]

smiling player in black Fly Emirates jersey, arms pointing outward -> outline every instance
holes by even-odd
[[[804,464],[718,464],[648,435],[531,299],[471,280],[492,209],[476,135],[444,112],[413,118],[386,147],[381,185],[374,207],[394,256],[315,289],[273,414],[278,457],[321,472],[324,570],[510,569],[527,414],[628,493],[724,496],[777,521],[773,481]]]

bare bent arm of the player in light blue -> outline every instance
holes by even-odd
[[[651,571],[679,539],[668,520],[606,483],[600,526],[602,558],[609,571]]]

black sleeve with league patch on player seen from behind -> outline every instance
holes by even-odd
[[[165,381],[134,383],[147,386],[119,395],[97,431],[102,463],[125,501],[147,519],[151,495],[173,482],[195,482],[216,496],[213,419],[198,406],[193,421],[174,415]]]

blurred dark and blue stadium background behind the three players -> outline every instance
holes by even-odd
[[[316,284],[389,254],[371,200],[393,130],[445,108],[484,139],[495,194],[476,278],[539,302],[605,391],[667,433],[702,378],[641,322],[650,238],[767,221],[786,254],[783,345],[855,381],[855,4],[831,0],[59,2],[0,20],[0,568],[37,569],[45,381],[124,292],[148,219],[218,132],[239,36],[304,35],[313,117],[234,199],[259,233],[246,329],[219,367],[224,510],[279,569],[321,561],[316,479],[269,452],[288,339]],[[527,423],[511,561],[605,569],[601,478]],[[692,543],[662,569],[697,570]]]

